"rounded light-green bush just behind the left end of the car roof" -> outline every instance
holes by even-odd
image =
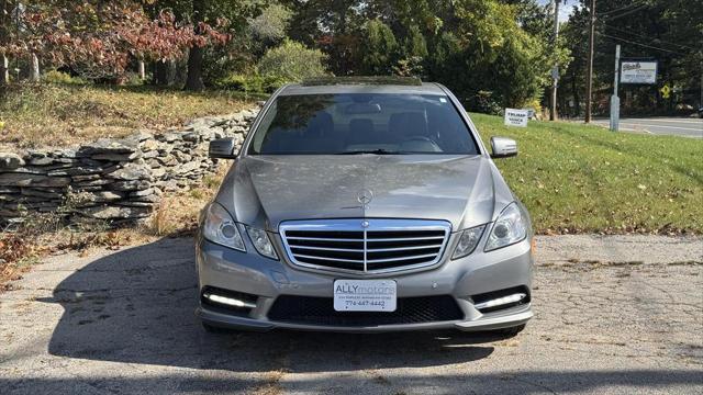
[[[305,78],[326,75],[325,60],[326,56],[320,49],[310,49],[301,43],[286,40],[283,44],[264,54],[258,71],[265,77],[299,82]]]

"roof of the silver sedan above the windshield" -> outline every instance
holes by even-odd
[[[313,82],[287,84],[279,95],[295,94],[336,94],[336,93],[404,93],[404,94],[440,94],[446,95],[442,87],[434,82],[406,83],[404,80],[352,80],[333,78]]]

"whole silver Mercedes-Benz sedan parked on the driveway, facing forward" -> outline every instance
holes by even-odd
[[[445,87],[289,84],[266,102],[203,210],[209,330],[517,332],[533,316],[529,216]]]

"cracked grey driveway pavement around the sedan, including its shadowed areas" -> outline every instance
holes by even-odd
[[[0,394],[701,394],[703,238],[537,241],[488,334],[207,334],[190,239],[51,257],[0,295]]]

